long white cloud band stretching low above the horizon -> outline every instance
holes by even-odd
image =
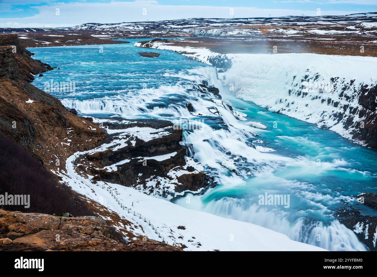
[[[56,3],[35,6],[39,14],[25,18],[0,18],[0,27],[69,27],[82,23],[119,23],[157,21],[181,18],[231,18],[231,7],[157,5],[155,1],[110,3]],[[55,10],[60,9],[60,15]],[[286,15],[316,15],[316,10],[233,8],[234,17],[273,17]],[[144,12],[144,15],[143,15]],[[344,15],[356,12],[323,11],[322,15]]]

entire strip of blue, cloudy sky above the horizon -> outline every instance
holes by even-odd
[[[0,0],[0,27],[65,27],[189,17],[340,15],[377,11],[377,0]],[[56,14],[59,9],[59,14]],[[142,14],[146,9],[147,14]]]

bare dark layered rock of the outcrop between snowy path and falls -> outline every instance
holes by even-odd
[[[116,119],[119,122],[113,122]],[[153,193],[155,189],[158,189],[159,193],[162,191],[162,197],[174,196],[171,190],[164,189],[164,184],[160,184],[157,177],[172,181],[173,178],[167,175],[169,171],[173,170],[173,168],[173,171],[183,170],[186,165],[185,155],[188,152],[187,146],[180,144],[182,129],[176,128],[172,122],[159,119],[135,119],[127,121],[124,118],[111,118],[111,120],[112,122],[103,123],[106,128],[111,130],[150,127],[156,129],[156,132],[151,131],[150,134],[162,135],[149,141],[132,138],[132,140],[136,141],[133,144],[127,141],[131,135],[129,137],[122,135],[127,141],[127,146],[117,150],[108,148],[91,155],[82,155],[76,161],[77,164],[80,164],[77,167],[78,170],[95,176],[92,179],[93,182],[104,181],[121,184],[126,187],[138,187],[139,189],[143,187],[146,193]],[[118,135],[117,133],[109,135],[104,143],[118,138]],[[174,156],[170,156],[170,158],[162,161],[152,158],[174,152],[176,152]],[[116,170],[103,169],[126,159],[129,161],[116,165]],[[185,170],[192,173],[182,174],[176,181],[173,181],[173,184],[176,185],[175,192],[180,193],[185,190],[198,191],[201,188],[209,187],[211,179],[207,178],[206,174],[196,171],[191,166]],[[156,182],[156,187],[147,186],[147,183],[152,181],[152,179]]]

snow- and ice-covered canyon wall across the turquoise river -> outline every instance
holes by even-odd
[[[376,57],[218,54],[163,41],[134,46],[168,49],[228,69],[219,77],[238,98],[377,147]]]

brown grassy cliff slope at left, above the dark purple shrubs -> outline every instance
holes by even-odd
[[[32,59],[17,35],[0,35],[0,132],[56,171],[72,153],[93,148],[106,134],[28,83],[32,74],[51,69]]]

